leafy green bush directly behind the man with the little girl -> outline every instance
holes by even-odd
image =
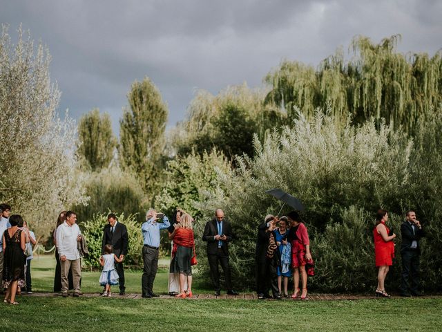
[[[126,266],[142,266],[142,247],[143,238],[141,234],[141,225],[135,221],[135,216],[117,214],[118,222],[124,223],[128,232],[128,252],[124,257]],[[84,266],[91,268],[100,268],[99,257],[102,255],[103,228],[108,223],[107,213],[95,214],[92,219],[79,225],[81,232],[88,242],[89,255],[84,257]]]

